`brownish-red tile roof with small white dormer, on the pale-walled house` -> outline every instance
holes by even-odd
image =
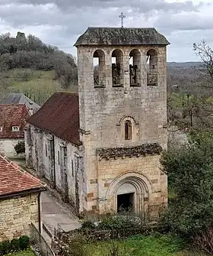
[[[24,138],[24,127],[29,116],[24,104],[0,104],[0,138]],[[12,131],[12,126],[19,126],[19,131]]]

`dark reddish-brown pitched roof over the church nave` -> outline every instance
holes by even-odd
[[[55,92],[27,122],[49,133],[81,145],[78,94]]]

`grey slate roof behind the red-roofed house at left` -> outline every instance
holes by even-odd
[[[8,96],[3,96],[0,104],[25,104],[27,109],[33,109],[33,113],[40,109],[40,105],[37,105],[23,93],[9,93]]]

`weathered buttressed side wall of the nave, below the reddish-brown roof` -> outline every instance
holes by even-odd
[[[64,171],[67,176],[68,202],[74,207],[77,202],[81,202],[79,211],[82,212],[82,199],[84,198],[82,170],[84,168],[79,148],[33,125],[25,131],[25,138],[27,167],[33,168],[38,174],[43,173],[43,177],[49,181],[50,186],[56,188],[61,194],[64,193],[65,184],[63,184],[62,177],[63,170],[66,169]],[[65,162],[62,159],[64,148],[67,151]],[[77,187],[79,191],[76,191]]]

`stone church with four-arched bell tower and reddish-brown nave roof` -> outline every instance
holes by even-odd
[[[78,93],[56,92],[27,120],[27,167],[83,215],[167,204],[167,45],[154,28],[87,28],[75,43]]]

